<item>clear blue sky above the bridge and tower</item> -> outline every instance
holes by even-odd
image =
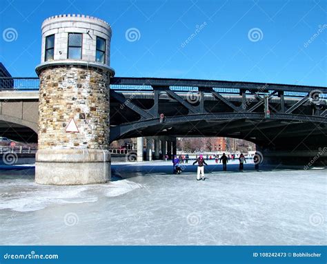
[[[0,61],[16,77],[36,76],[43,19],[83,14],[111,24],[111,66],[116,76],[327,84],[324,0],[0,3]],[[201,29],[190,37],[197,26]],[[5,41],[8,28],[16,30],[17,39]],[[126,39],[129,28],[139,30],[137,41]],[[251,41],[257,40],[255,33],[248,35],[253,28],[262,32],[257,31],[258,41]]]

